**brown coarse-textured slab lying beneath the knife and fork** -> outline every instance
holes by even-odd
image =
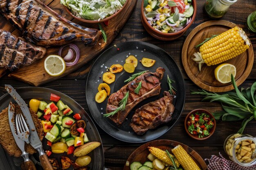
[[[38,119],[38,116],[36,113],[32,110],[30,110],[31,117],[34,121],[36,132],[38,134],[38,137],[40,140],[43,140],[43,126],[41,124],[40,119]],[[18,105],[15,105],[15,113],[22,113],[20,107]],[[2,110],[0,113],[0,144],[2,148],[10,155],[14,157],[20,157],[21,150],[16,145],[16,142],[12,136],[11,128],[8,120],[8,108]],[[36,150],[29,144],[25,142],[25,150],[29,154],[36,153]]]

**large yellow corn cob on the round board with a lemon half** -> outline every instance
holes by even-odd
[[[199,64],[201,70],[201,64],[211,66],[227,61],[245,52],[250,45],[245,32],[235,26],[200,46],[200,53],[194,53],[193,60]]]

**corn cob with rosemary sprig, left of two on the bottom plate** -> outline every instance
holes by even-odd
[[[149,152],[151,152],[155,157],[163,161],[164,163],[167,163],[169,166],[173,166],[173,162],[168,157],[166,152],[162,149],[155,148],[155,147],[148,147]],[[171,154],[170,154],[171,155]],[[173,157],[173,155],[171,155]],[[180,163],[175,159],[176,166],[179,167]]]

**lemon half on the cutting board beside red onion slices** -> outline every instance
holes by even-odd
[[[59,76],[65,72],[66,63],[58,55],[49,55],[45,59],[45,71],[51,76]]]

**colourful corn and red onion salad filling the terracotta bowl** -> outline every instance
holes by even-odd
[[[162,33],[184,29],[194,12],[191,0],[144,0],[144,15],[148,23]]]

